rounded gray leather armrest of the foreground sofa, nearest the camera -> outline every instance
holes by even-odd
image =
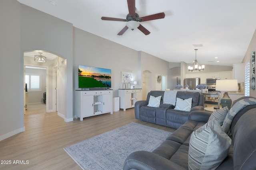
[[[148,151],[131,153],[124,162],[123,170],[185,170],[180,165]]]

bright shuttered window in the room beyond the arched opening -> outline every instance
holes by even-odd
[[[41,90],[41,75],[26,74],[25,83],[27,84],[28,92],[40,92]]]

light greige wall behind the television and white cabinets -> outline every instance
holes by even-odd
[[[138,51],[74,27],[74,88],[78,89],[78,65],[111,69],[113,97],[122,88],[121,72],[132,72],[140,80]]]

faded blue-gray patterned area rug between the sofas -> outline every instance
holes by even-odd
[[[64,150],[84,170],[122,170],[127,156],[137,150],[156,149],[171,133],[129,123]]]

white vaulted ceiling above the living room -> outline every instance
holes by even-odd
[[[200,64],[241,63],[256,29],[256,0],[136,0],[140,17],[164,12],[164,19],[141,22],[151,33],[127,30],[122,21],[126,0],[18,0],[88,31],[168,62],[192,63],[194,49]],[[216,58],[218,57],[218,58]],[[217,62],[219,61],[219,62]]]

